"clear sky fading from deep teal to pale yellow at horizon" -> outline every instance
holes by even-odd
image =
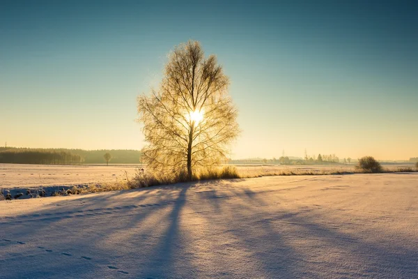
[[[415,1],[1,0],[0,145],[141,149],[137,96],[190,39],[231,80],[231,158],[418,156]]]

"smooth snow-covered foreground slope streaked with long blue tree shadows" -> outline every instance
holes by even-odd
[[[418,174],[3,201],[0,278],[418,278]]]

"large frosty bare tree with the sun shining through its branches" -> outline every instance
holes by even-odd
[[[240,133],[228,86],[216,56],[205,58],[199,42],[189,40],[174,48],[159,89],[138,97],[148,167],[187,169],[192,179],[194,169],[226,158],[229,144]]]

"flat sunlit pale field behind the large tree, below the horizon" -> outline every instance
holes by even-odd
[[[123,181],[144,165],[21,165],[0,164],[0,189]],[[353,172],[354,165],[236,165],[242,176],[278,172]],[[412,167],[412,163],[385,166],[389,169]]]

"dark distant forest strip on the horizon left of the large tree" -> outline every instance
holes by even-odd
[[[103,164],[104,154],[109,153],[113,164],[139,164],[141,152],[123,149],[28,149],[0,147],[0,163],[40,164],[40,165],[79,165]]]

